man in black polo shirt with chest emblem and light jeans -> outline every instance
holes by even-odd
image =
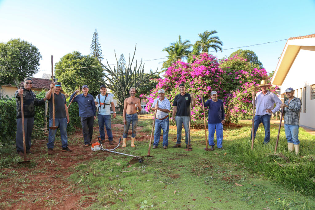
[[[173,147],[180,147],[181,143],[181,130],[182,125],[184,124],[185,129],[185,142],[186,142],[186,148],[188,144],[188,135],[189,135],[189,105],[190,105],[190,98],[192,98],[192,107],[196,106],[196,101],[194,98],[194,94],[188,94],[186,93],[186,88],[184,84],[179,85],[179,91],[180,94],[175,96],[174,102],[173,102],[173,116],[172,121],[174,122],[175,113],[176,113],[176,127],[177,127],[177,141],[176,144]],[[191,148],[191,145],[188,146],[189,149]]]

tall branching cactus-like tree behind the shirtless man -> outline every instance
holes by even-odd
[[[126,65],[125,71],[123,71],[121,68],[118,68],[119,63],[116,57],[116,51],[115,58],[117,62],[117,68],[114,66],[114,68],[112,69],[111,66],[108,64],[107,60],[106,62],[108,67],[104,64],[101,64],[103,66],[103,70],[106,72],[105,84],[109,89],[112,90],[121,111],[123,110],[123,103],[125,98],[129,97],[129,89],[131,87],[134,87],[136,88],[136,90],[138,90],[139,88],[146,86],[148,83],[150,83],[149,80],[152,77],[152,75],[157,73],[156,70],[155,72],[152,72],[150,74],[145,74],[144,65],[142,65],[142,59],[139,67],[138,62],[136,60],[135,67],[133,67],[132,69],[132,64],[136,53],[136,47],[137,44],[135,46],[135,52],[131,59],[131,62],[129,54],[129,63],[128,66]]]

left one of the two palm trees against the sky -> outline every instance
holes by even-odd
[[[189,43],[189,40],[182,41],[179,35],[178,41],[172,42],[169,47],[164,48],[162,51],[166,51],[168,53],[166,56],[168,60],[163,62],[162,68],[167,69],[174,62],[182,60],[182,58],[186,58],[190,53],[189,48],[191,47],[191,44]]]

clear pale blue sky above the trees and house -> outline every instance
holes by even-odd
[[[164,47],[178,39],[195,43],[198,33],[218,31],[223,49],[273,42],[315,33],[314,0],[278,1],[17,1],[0,0],[0,42],[24,39],[41,52],[39,73],[74,50],[90,53],[95,28],[104,57],[115,64],[123,53],[135,59],[165,58]],[[267,71],[276,69],[286,41],[246,47]],[[237,49],[213,53],[218,58]],[[145,61],[160,70],[163,60]],[[139,64],[138,64],[139,65]],[[48,71],[43,71],[48,70]]]

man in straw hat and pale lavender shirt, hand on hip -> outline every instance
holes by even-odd
[[[255,96],[255,107],[256,113],[254,118],[254,138],[256,136],[257,129],[259,124],[262,123],[265,128],[265,139],[264,144],[267,144],[270,141],[270,118],[272,113],[276,113],[280,110],[280,105],[282,104],[281,100],[278,96],[267,90],[270,87],[270,84],[266,82],[266,80],[262,80],[260,85],[261,91],[255,94],[252,92],[252,97]],[[252,101],[254,103],[254,101]],[[274,107],[276,104],[276,107]],[[250,138],[252,139],[253,131],[250,134]]]

